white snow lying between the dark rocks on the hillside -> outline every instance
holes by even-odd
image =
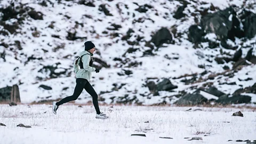
[[[41,4],[43,2],[47,6],[43,6]],[[236,5],[237,7],[251,6],[250,11],[256,12],[254,0],[245,2],[239,0],[199,0],[188,2],[189,4],[184,11],[186,17],[177,20],[173,18],[173,14],[177,11],[177,7],[182,5],[181,1],[93,1],[95,7],[79,4],[78,0],[59,2],[52,0],[14,1],[15,5],[26,4],[25,6],[42,12],[43,20],[34,20],[26,17],[17,30],[17,34],[0,35],[1,43],[9,44],[7,48],[0,45],[0,53],[5,53],[6,60],[4,61],[0,58],[0,88],[18,84],[22,103],[54,100],[73,94],[75,87],[73,60],[77,57],[76,53],[84,49],[84,42],[92,41],[95,43],[97,51],[100,52],[100,54],[94,54],[94,57],[106,61],[110,66],[110,68],[102,68],[98,74],[93,73],[93,78],[91,79],[91,84],[98,94],[100,92],[110,92],[100,94],[100,97],[105,99],[104,103],[111,103],[112,99],[110,98],[116,97],[113,99],[113,103],[115,103],[118,97],[124,97],[124,95],[128,95],[127,97],[131,99],[137,97],[137,100],[143,105],[159,103],[163,102],[163,100],[167,103],[173,103],[177,98],[170,100],[165,97],[178,94],[180,91],[189,91],[188,88],[193,86],[185,85],[185,83],[180,82],[182,79],[173,79],[174,77],[186,74],[200,74],[207,70],[209,73],[202,77],[207,79],[210,74],[225,71],[223,66],[228,66],[229,68],[233,66],[232,62],[219,65],[214,58],[221,56],[221,51],[233,55],[235,50],[226,50],[222,47],[208,49],[207,43],[202,43],[203,47],[201,49],[194,49],[194,44],[187,39],[188,28],[195,24],[192,13],[198,13],[197,10],[209,8],[211,3],[221,10],[229,5]],[[3,0],[0,3],[0,7],[7,7],[11,5],[10,3],[10,0]],[[99,11],[101,4],[107,4],[107,8],[113,16],[107,16],[104,12]],[[144,4],[151,4],[153,8],[148,9],[145,13],[135,10],[139,8],[139,5]],[[215,11],[209,10],[209,12]],[[133,23],[138,19],[142,19],[144,22]],[[7,23],[12,22],[15,22],[15,19],[7,20]],[[121,28],[109,30],[109,28],[113,28],[111,26],[113,24],[120,25]],[[150,41],[151,35],[162,27],[166,27],[169,30],[175,27],[177,34],[181,34],[181,37],[173,37],[175,44],[165,44],[158,51],[154,50],[153,53],[156,55],[142,57],[143,52],[150,49],[145,46],[146,42]],[[133,29],[134,33],[131,34],[129,41],[135,41],[138,36],[143,37],[138,45],[129,45],[127,41],[122,40],[122,37],[126,35],[127,30],[130,28]],[[1,29],[3,29],[3,26],[0,26]],[[87,38],[70,41],[66,38],[70,31],[76,31],[77,37]],[[107,34],[103,33],[104,31],[107,31]],[[38,36],[33,36],[35,32],[38,33]],[[113,37],[115,33],[118,34],[117,37]],[[214,39],[216,36],[209,34],[207,37]],[[20,42],[22,50],[17,49],[14,41]],[[251,47],[247,46],[253,46],[252,43],[255,41],[256,37],[247,42],[242,42],[237,38],[232,44],[244,46],[242,55],[242,58],[244,58],[247,51],[251,49]],[[123,57],[126,50],[131,47],[138,50],[133,53],[126,53],[125,57]],[[255,46],[253,54],[256,54]],[[166,55],[171,59],[166,59]],[[31,59],[28,61],[28,58]],[[122,63],[115,61],[114,58],[130,59],[130,61],[121,66]],[[138,67],[127,67],[130,62],[135,61],[142,64]],[[199,65],[205,68],[199,68]],[[54,73],[60,73],[65,70],[66,73],[51,78],[50,70],[44,69],[47,66],[57,67],[58,69],[55,69]],[[123,70],[131,70],[133,74],[119,76],[117,73],[123,73]],[[209,79],[206,82],[195,85],[199,87],[204,83],[212,82],[213,86],[219,90],[226,94],[232,94],[237,89],[252,86],[256,82],[255,73],[255,65],[251,65],[235,73],[233,78],[228,76],[218,77],[218,79]],[[178,86],[178,89],[175,89],[174,92],[162,91],[159,92],[158,96],[153,97],[153,94],[150,95],[148,87],[144,86],[149,77],[157,78],[156,81],[168,78],[174,85]],[[248,77],[252,79],[246,82],[238,80],[238,78],[246,79]],[[236,85],[219,85],[220,81],[236,82]],[[52,87],[52,90],[42,89],[39,87],[42,84]],[[113,84],[125,85],[121,89],[113,91]],[[141,95],[149,96],[142,97]],[[90,95],[86,92],[83,92],[80,98],[80,100],[76,101],[77,103],[91,101]]]

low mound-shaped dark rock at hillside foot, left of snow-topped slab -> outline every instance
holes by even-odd
[[[188,93],[183,95],[178,101],[176,101],[174,104],[176,105],[201,105],[204,102],[207,102],[207,99],[203,97],[199,93],[199,91],[196,91],[194,93]]]

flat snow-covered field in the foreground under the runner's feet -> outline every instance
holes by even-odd
[[[0,143],[246,143],[236,140],[256,140],[255,109],[100,108],[109,119],[95,119],[92,106],[63,105],[54,115],[50,105],[0,105],[0,123],[6,125],[0,126]],[[231,116],[236,111],[241,111],[244,117]],[[18,127],[21,123],[31,128]],[[202,140],[189,141],[193,137]]]

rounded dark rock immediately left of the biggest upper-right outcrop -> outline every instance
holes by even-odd
[[[188,41],[192,43],[200,43],[203,40],[204,36],[204,30],[203,28],[197,26],[197,25],[192,25],[188,29]]]

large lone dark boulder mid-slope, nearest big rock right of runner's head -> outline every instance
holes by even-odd
[[[172,35],[167,28],[161,28],[152,37],[150,42],[153,42],[156,47],[161,47],[164,43],[170,44],[172,41]]]

